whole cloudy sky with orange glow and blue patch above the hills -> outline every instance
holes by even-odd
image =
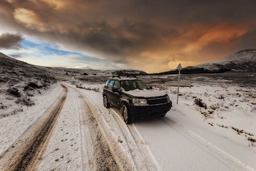
[[[168,71],[256,48],[256,1],[0,0],[0,52],[42,66]]]

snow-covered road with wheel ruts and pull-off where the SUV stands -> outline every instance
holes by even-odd
[[[24,161],[27,163],[22,169],[19,168],[19,164],[24,164],[24,161],[15,158],[22,156],[21,149],[26,152],[30,146],[33,146],[27,139],[38,137],[37,132],[43,130],[43,126],[40,125],[41,120],[44,120],[42,118],[47,118],[49,114],[47,111],[59,106],[57,101],[61,97],[52,104],[49,103],[49,99],[43,101],[42,98],[38,105],[47,102],[51,107],[45,112],[40,111],[42,116],[36,115],[37,120],[31,122],[26,117],[22,117],[22,113],[19,114],[17,125],[20,125],[19,123],[27,125],[25,129],[18,131],[19,136],[15,125],[11,125],[11,121],[17,116],[0,120],[0,123],[9,122],[9,126],[5,125],[4,131],[17,132],[16,136],[9,137],[1,144],[0,169],[15,167],[20,170],[30,168],[255,170],[256,168],[255,149],[232,141],[223,136],[223,133],[219,133],[219,129],[202,123],[200,117],[192,115],[197,111],[190,106],[174,105],[164,118],[138,119],[133,124],[126,125],[118,108],[103,107],[100,92],[78,89],[68,83],[63,85],[68,90],[66,101],[64,100],[61,111],[59,110],[57,120],[53,122],[52,131],[49,131],[48,136],[42,140],[42,144],[46,145],[33,149],[31,154],[36,155],[26,158]],[[61,94],[60,90],[62,87],[59,84],[54,89],[55,92],[52,92],[53,95],[46,95],[45,98],[56,99],[56,92]],[[32,114],[33,110],[31,109],[30,112]],[[30,112],[28,109],[25,114]],[[4,137],[5,134],[1,132],[0,135]]]

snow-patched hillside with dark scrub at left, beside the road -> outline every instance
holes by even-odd
[[[34,98],[56,82],[45,67],[30,65],[0,53],[0,118],[34,105]]]

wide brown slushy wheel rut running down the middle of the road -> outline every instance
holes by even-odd
[[[73,88],[78,93],[80,115],[80,132],[82,136],[83,170],[121,170],[115,160],[113,151],[104,139],[99,123],[91,111],[86,97],[79,89]]]

